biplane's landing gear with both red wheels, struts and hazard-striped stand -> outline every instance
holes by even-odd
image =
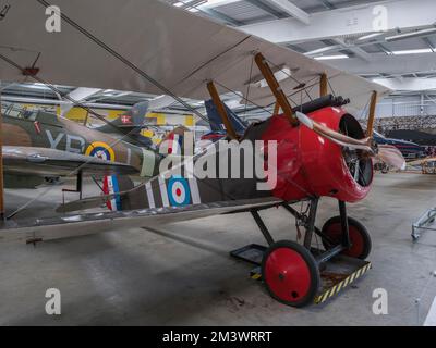
[[[306,213],[281,204],[305,229],[303,244],[275,241],[258,214],[258,210],[270,207],[251,209],[269,247],[250,245],[231,254],[259,265],[252,271],[252,277],[262,278],[270,296],[281,303],[322,303],[371,269],[371,262],[363,261],[371,251],[370,235],[360,222],[347,216],[346,203],[338,203],[340,214],[329,219],[322,229],[315,226],[318,198],[310,200]],[[325,250],[312,246],[314,235],[320,236]]]

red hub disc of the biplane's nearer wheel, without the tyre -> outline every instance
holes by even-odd
[[[296,302],[310,291],[311,271],[299,252],[277,248],[266,260],[264,281],[278,298]]]

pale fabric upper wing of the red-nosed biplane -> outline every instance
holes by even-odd
[[[49,17],[37,0],[15,0],[0,21],[0,54],[23,67],[39,69],[38,76],[51,84],[167,94],[109,53],[109,47],[172,94],[193,99],[209,98],[205,87],[209,79],[245,94],[249,83],[262,79],[255,64],[250,77],[254,51],[290,69],[292,78],[281,82],[288,95],[301,83],[316,83],[322,73],[330,78],[334,91],[349,97],[355,108],[365,105],[371,91],[388,90],[157,0],[58,0],[56,4],[80,28],[63,21],[60,33],[48,33]],[[89,32],[106,49],[80,29]],[[20,82],[23,73],[0,59],[0,77]],[[318,97],[317,88],[308,94]],[[274,102],[268,87],[252,86],[247,98],[261,105]],[[296,91],[293,100],[302,103],[308,98]]]

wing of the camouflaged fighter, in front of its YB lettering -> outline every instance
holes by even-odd
[[[93,175],[137,173],[129,164],[56,149],[3,146],[2,152],[5,173],[66,176],[76,174],[78,169]]]

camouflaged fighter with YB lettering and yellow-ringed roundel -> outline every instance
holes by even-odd
[[[5,187],[33,188],[46,179],[72,174],[154,174],[158,156],[154,151],[56,114],[11,105],[2,114],[2,122]]]

